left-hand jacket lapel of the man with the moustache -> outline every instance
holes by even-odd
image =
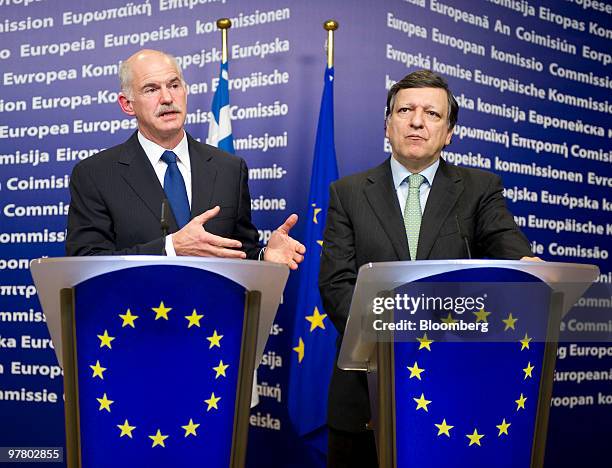
[[[134,190],[155,219],[161,218],[162,201],[165,198],[164,189],[159,183],[151,162],[138,142],[137,132],[124,143],[124,151],[119,158],[122,166],[122,176]],[[176,231],[178,226],[174,215],[170,215],[170,230]]]

